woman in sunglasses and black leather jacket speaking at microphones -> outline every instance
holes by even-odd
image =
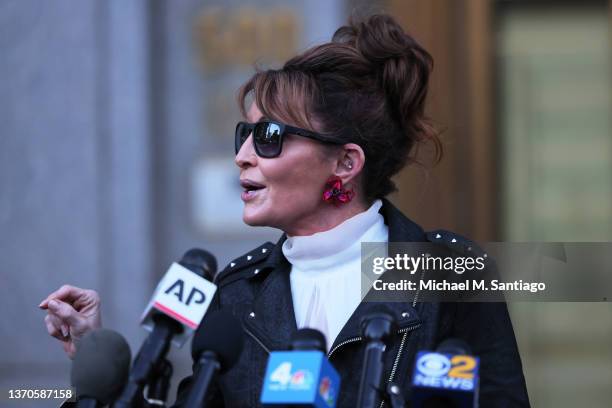
[[[216,404],[259,405],[270,350],[286,348],[298,328],[313,327],[328,339],[330,361],[342,377],[339,406],[355,406],[364,352],[359,322],[376,307],[361,302],[360,243],[462,240],[426,234],[384,199],[418,143],[431,141],[441,151],[424,116],[431,69],[430,55],[391,17],[377,15],[341,27],[330,43],[279,70],[257,72],[241,88],[246,121],[236,127],[235,162],[244,222],[284,234],[216,277],[213,307],[231,311],[246,333],[239,362],[211,396]],[[89,302],[80,300],[83,294]],[[42,306],[50,310],[50,334],[69,353],[71,338],[99,324],[93,292],[63,287]],[[386,306],[400,330],[385,352],[385,376],[408,399],[416,351],[453,337],[481,359],[481,406],[529,405],[505,304]],[[188,378],[177,406],[189,388]]]

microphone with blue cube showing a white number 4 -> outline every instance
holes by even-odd
[[[301,329],[293,336],[292,351],[270,353],[261,403],[335,407],[340,375],[327,360],[326,349],[325,336],[320,331]]]

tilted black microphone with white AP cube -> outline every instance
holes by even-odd
[[[142,326],[150,334],[134,359],[128,382],[115,407],[132,406],[165,358],[170,342],[182,347],[198,328],[217,287],[199,275],[214,275],[217,262],[202,249],[190,249],[161,279],[145,309]]]

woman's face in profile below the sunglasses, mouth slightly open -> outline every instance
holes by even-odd
[[[247,120],[255,123],[262,117],[253,103]],[[244,222],[279,228],[289,235],[310,235],[307,231],[320,223],[317,218],[329,207],[323,189],[336,161],[326,156],[323,144],[296,135],[285,136],[280,156],[261,158],[252,139],[249,135],[235,160],[244,188]]]

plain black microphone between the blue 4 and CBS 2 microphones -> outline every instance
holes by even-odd
[[[361,335],[367,344],[357,397],[359,408],[374,408],[381,403],[385,392],[381,388],[383,355],[391,335],[397,331],[396,326],[393,314],[384,306],[374,308],[361,320]]]

